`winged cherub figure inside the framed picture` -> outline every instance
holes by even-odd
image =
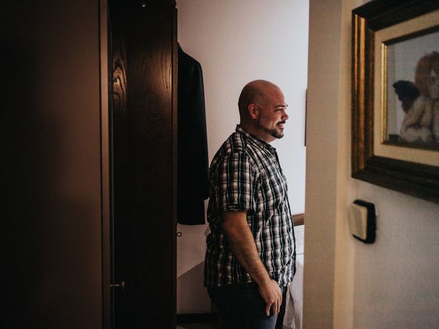
[[[393,84],[405,117],[399,136],[407,143],[439,143],[439,53],[432,51],[416,65],[415,82]]]

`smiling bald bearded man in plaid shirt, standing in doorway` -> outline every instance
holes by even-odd
[[[240,123],[209,169],[204,285],[226,328],[274,328],[295,271],[287,183],[270,142],[288,119],[278,86],[255,80],[239,96]]]

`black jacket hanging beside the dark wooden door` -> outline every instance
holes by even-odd
[[[204,224],[209,156],[201,64],[178,45],[178,223]]]

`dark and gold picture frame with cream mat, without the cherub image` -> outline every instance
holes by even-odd
[[[439,138],[414,143],[404,135],[404,112],[421,99],[412,97],[404,112],[388,101],[397,90],[389,52],[439,35],[439,1],[370,1],[353,10],[352,23],[352,177],[439,203]]]

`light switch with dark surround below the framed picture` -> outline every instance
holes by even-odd
[[[376,217],[374,204],[355,200],[348,209],[349,230],[353,237],[364,243],[374,243]]]

